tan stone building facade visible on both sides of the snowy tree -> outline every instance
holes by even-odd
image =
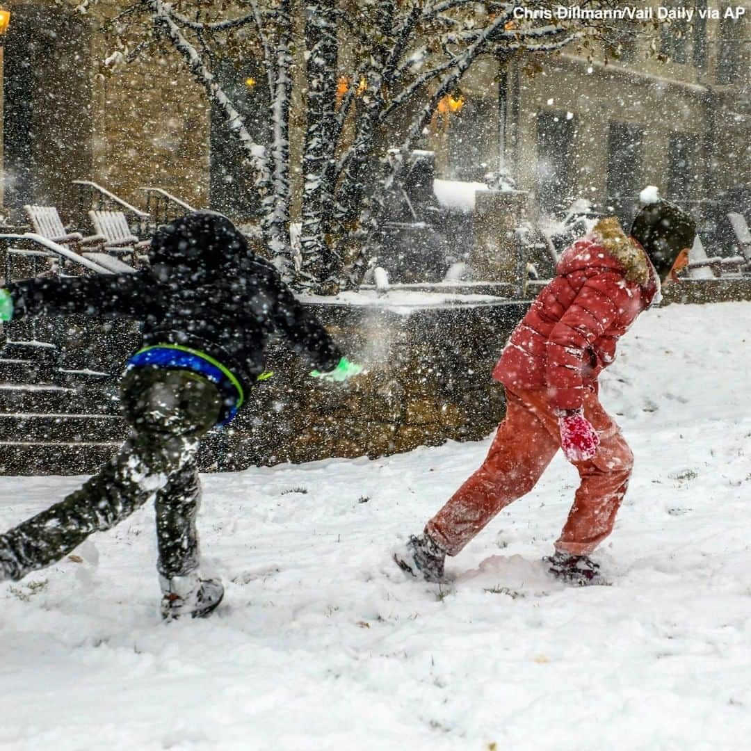
[[[695,7],[706,3],[695,0]],[[724,12],[724,2],[709,3]],[[101,22],[116,2],[101,0],[86,16],[72,0],[9,6],[6,213],[30,201],[71,213],[76,178],[135,205],[143,205],[139,189],[155,185],[194,206],[228,210],[216,205],[225,179],[216,122],[213,128],[203,92],[181,60],[104,75],[112,41]],[[667,62],[647,59],[639,41],[607,64],[573,50],[553,56],[535,75],[523,61],[499,74],[496,61],[481,59],[461,84],[463,110],[423,145],[436,151],[439,176],[481,179],[505,167],[544,210],[573,198],[614,201],[647,183],[699,201],[751,182],[751,14],[728,20],[723,12],[690,28],[666,26],[658,47]],[[299,151],[298,125],[292,148]]]

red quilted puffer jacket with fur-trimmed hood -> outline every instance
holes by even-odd
[[[493,378],[511,389],[547,388],[553,407],[578,409],[659,279],[614,218],[566,249],[556,273],[511,333]]]

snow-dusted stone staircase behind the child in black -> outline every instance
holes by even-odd
[[[11,339],[0,335],[0,475],[96,472],[128,435],[118,385],[137,324],[65,318],[9,328]],[[201,441],[202,472],[234,468],[225,441],[218,430]]]

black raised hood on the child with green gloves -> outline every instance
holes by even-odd
[[[179,276],[211,276],[252,255],[245,237],[226,216],[196,211],[174,219],[154,234],[149,249],[152,269]]]

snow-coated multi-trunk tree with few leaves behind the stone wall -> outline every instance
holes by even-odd
[[[86,0],[89,5],[95,0]],[[547,0],[138,0],[108,23],[134,62],[176,53],[237,136],[238,158],[255,174],[264,240],[299,288],[330,294],[356,287],[372,252],[385,194],[439,102],[478,59],[544,59],[570,45],[608,44],[623,28],[604,20],[555,20],[517,8],[552,10]],[[581,8],[618,8],[582,0]],[[290,240],[290,116],[294,47],[302,45],[306,115],[300,256]],[[270,138],[255,143],[222,89],[215,61],[234,54],[261,62],[270,92]],[[394,146],[397,151],[394,152]],[[387,151],[391,154],[387,158]]]

